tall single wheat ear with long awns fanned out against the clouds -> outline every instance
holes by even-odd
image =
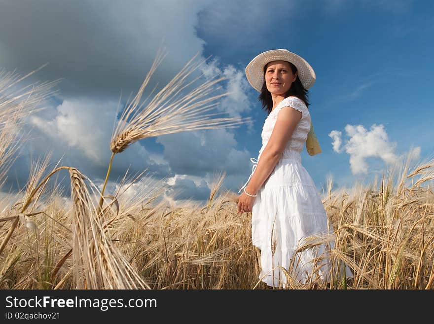
[[[196,61],[197,55],[152,98],[142,101],[145,88],[165,55],[161,50],[158,51],[144,82],[133,100],[126,105],[112,134],[110,141],[112,154],[101,191],[99,211],[103,204],[103,195],[109,180],[114,154],[124,151],[129,145],[145,138],[166,134],[237,127],[252,120],[250,117],[245,119],[216,118],[215,116],[220,113],[210,113],[217,108],[217,100],[228,95],[228,93],[212,95],[220,89],[217,84],[225,78],[215,76],[200,83],[199,86],[194,84],[201,79],[201,76],[188,81],[188,76],[204,63]],[[150,95],[152,93],[153,91]]]

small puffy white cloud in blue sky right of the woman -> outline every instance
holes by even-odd
[[[328,136],[333,139],[335,152],[345,151],[350,154],[350,167],[353,174],[368,172],[366,162],[368,157],[378,157],[386,163],[392,163],[397,159],[395,154],[397,144],[389,140],[382,124],[373,124],[369,131],[362,125],[347,125],[345,131],[349,140],[342,148],[341,132],[331,131]]]

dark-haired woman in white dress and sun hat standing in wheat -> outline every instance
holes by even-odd
[[[257,160],[251,159],[253,171],[238,200],[238,213],[252,212],[252,241],[261,250],[259,278],[268,286],[285,286],[287,277],[280,267],[288,271],[291,265],[290,275],[302,284],[317,276],[328,281],[331,267],[324,244],[294,254],[303,238],[333,231],[327,230],[323,203],[301,164],[305,143],[310,155],[321,152],[307,108],[315,72],[300,56],[277,49],[256,56],[246,76],[268,110],[262,147]],[[314,260],[320,256],[323,261]],[[352,277],[345,268],[347,278]]]

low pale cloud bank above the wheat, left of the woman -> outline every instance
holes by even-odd
[[[117,105],[117,102],[89,98],[68,99],[49,111],[32,115],[29,123],[33,130],[22,152],[37,156],[44,155],[50,149],[53,161],[63,157],[63,165],[78,168],[100,184],[111,155],[109,142]],[[238,184],[244,177],[245,165],[250,157],[247,150],[236,148],[235,135],[227,129],[182,132],[157,137],[155,141],[161,144],[163,152],[150,152],[141,144],[146,142],[144,140],[117,154],[110,179],[123,177],[127,169],[140,172],[145,168],[159,179],[171,175],[188,176],[188,181],[181,179],[170,183],[172,189],[180,189],[182,199],[195,195],[198,195],[197,199],[204,199],[209,196],[204,180],[209,180],[216,171],[225,171],[231,179],[230,183]],[[24,161],[19,160],[14,169],[28,169],[30,163],[26,157]],[[22,176],[21,183],[27,180],[27,175]],[[238,181],[232,179],[234,177]],[[191,179],[194,179],[195,185]],[[68,188],[68,179],[64,186]]]

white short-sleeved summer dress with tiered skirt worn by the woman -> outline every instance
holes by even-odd
[[[333,233],[331,224],[327,230],[327,215],[315,183],[301,165],[300,152],[310,130],[311,117],[304,102],[297,97],[285,98],[265,119],[261,133],[262,147],[257,160],[251,159],[254,163],[251,177],[282,108],[299,110],[302,118],[274,170],[258,190],[252,210],[252,243],[261,250],[259,279],[272,287],[286,286],[287,278],[278,266],[289,269],[293,253],[303,245],[303,238],[313,234]],[[329,242],[329,248],[333,248],[333,242]],[[327,257],[316,266],[311,262],[325,251],[327,250],[323,244],[298,252],[289,273],[291,277],[301,284],[306,284],[311,275],[312,279],[315,279],[316,275],[312,274],[315,272],[313,268],[318,269],[320,265],[317,274],[322,281],[328,282],[328,254],[324,254]],[[349,267],[345,268],[347,278],[353,277]],[[333,278],[340,278],[342,272],[342,268],[339,272],[336,271]]]

